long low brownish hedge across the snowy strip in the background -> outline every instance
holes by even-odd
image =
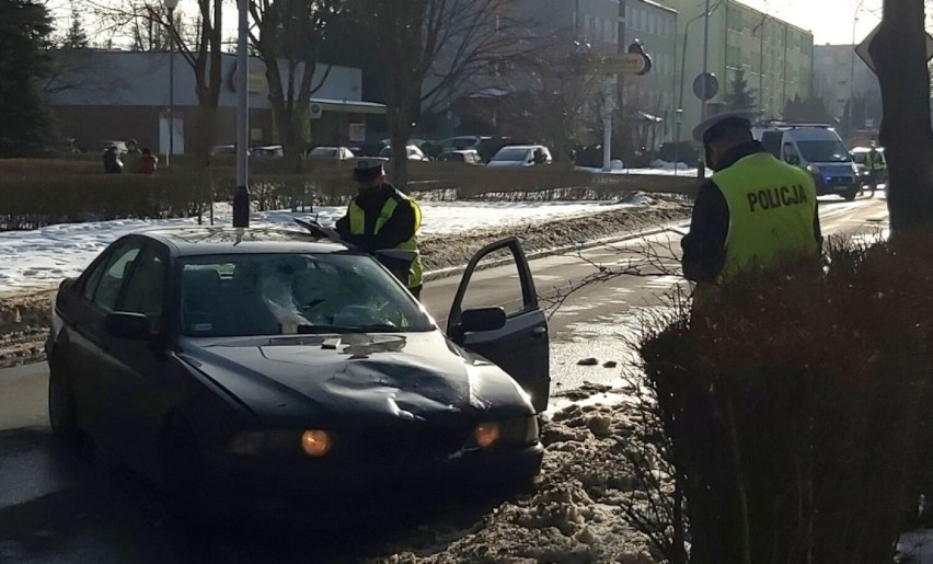
[[[197,214],[209,202],[232,199],[233,159],[209,168],[193,158],[172,161],[153,175],[105,174],[99,159],[0,160],[0,230],[120,218]],[[494,170],[458,163],[410,163],[408,189],[424,199],[601,199],[631,191],[689,194],[695,180],[673,176],[594,176],[565,165]],[[356,192],[347,162],[306,160],[301,172],[287,159],[253,159],[250,189],[261,211],[342,205]]]

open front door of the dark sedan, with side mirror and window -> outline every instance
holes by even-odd
[[[495,308],[463,311],[463,300],[471,288],[473,274],[483,258],[496,252],[507,252],[510,256],[502,262],[506,267],[515,262],[518,276],[497,277],[496,281],[486,280],[482,284],[492,296],[510,296],[494,285],[520,285],[521,303],[506,315],[505,303],[495,303]],[[495,266],[499,268],[499,266]],[[510,274],[510,273],[509,273]],[[480,285],[481,280],[473,283]],[[475,287],[475,286],[474,286]],[[502,299],[502,298],[498,298]],[[488,303],[488,301],[487,301]],[[493,303],[491,303],[493,304]],[[498,316],[498,319],[496,319]],[[492,323],[489,322],[489,320]],[[476,322],[476,320],[482,320]],[[450,315],[447,321],[447,334],[454,343],[481,355],[498,365],[509,373],[529,395],[537,412],[548,407],[551,392],[551,358],[548,336],[548,318],[538,307],[538,295],[534,291],[534,280],[531,268],[518,239],[509,238],[493,243],[476,253],[466,265],[463,279],[453,298]]]

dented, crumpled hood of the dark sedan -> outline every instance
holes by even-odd
[[[439,331],[185,339],[181,357],[257,415],[526,413],[527,395],[500,368]]]

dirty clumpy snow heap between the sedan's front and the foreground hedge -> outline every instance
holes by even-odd
[[[646,488],[633,468],[635,457],[646,465],[655,458],[644,441],[644,416],[630,405],[569,405],[554,413],[543,427],[548,449],[532,494],[504,503],[466,529],[428,528],[418,542],[401,543],[372,562],[660,562],[626,511],[658,502],[657,488],[669,490],[670,479],[652,465],[641,474],[654,482]]]

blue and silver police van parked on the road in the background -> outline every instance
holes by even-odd
[[[817,195],[852,200],[861,192],[852,156],[828,125],[765,123],[755,127],[753,134],[771,154],[809,172]]]

